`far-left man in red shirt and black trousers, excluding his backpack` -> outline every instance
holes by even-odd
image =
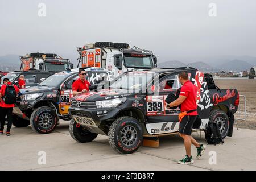
[[[11,130],[11,125],[13,123],[13,107],[14,104],[6,104],[5,101],[3,100],[3,97],[5,96],[5,91],[8,85],[12,85],[11,82],[9,81],[8,78],[3,79],[3,85],[1,86],[0,90],[0,107],[1,108],[1,113],[0,113],[0,134],[3,134],[3,129],[5,126],[5,116],[7,115],[7,130],[6,130],[6,135],[10,136],[10,130]],[[19,88],[16,85],[13,85],[15,92],[19,92]]]

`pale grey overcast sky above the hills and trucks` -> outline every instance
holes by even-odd
[[[39,3],[46,17],[38,16]],[[217,16],[208,7],[216,3]],[[159,61],[256,56],[255,0],[0,0],[0,56],[77,55],[98,41],[151,49]]]

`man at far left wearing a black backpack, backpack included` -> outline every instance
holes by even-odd
[[[0,134],[3,134],[5,126],[5,116],[7,115],[7,130],[6,135],[10,136],[11,125],[13,122],[13,107],[16,102],[17,93],[19,88],[11,84],[8,78],[3,79],[3,85],[0,90]]]

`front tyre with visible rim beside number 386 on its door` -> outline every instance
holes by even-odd
[[[42,120],[44,121],[44,119],[47,119],[47,117],[49,121],[49,126],[41,126],[42,123],[40,122],[42,122]],[[34,110],[30,117],[30,125],[32,130],[35,131],[35,133],[39,134],[51,133],[57,126],[57,122],[58,117],[55,110],[53,110],[51,107],[46,106],[39,107],[38,109]]]

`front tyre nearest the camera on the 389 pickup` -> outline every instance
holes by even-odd
[[[130,127],[131,129],[136,130],[137,133],[136,139],[130,144],[130,146],[123,142],[123,139],[126,140],[127,138],[130,138],[129,135],[122,134],[122,131],[127,129],[127,127],[128,129]],[[143,142],[143,129],[141,123],[133,117],[121,117],[116,119],[110,126],[108,135],[110,146],[120,154],[132,154],[139,149]],[[122,139],[122,137],[125,138]],[[134,138],[135,137],[133,137],[133,139]]]

